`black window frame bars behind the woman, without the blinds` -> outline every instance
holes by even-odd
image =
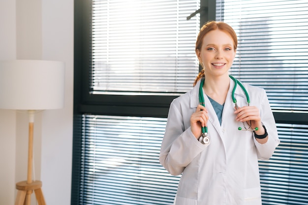
[[[81,159],[82,115],[115,115],[136,117],[167,117],[170,103],[179,95],[93,95],[90,85],[89,40],[91,0],[74,0],[74,124],[71,204],[79,204],[79,172]],[[215,20],[216,0],[201,0],[208,7],[200,16],[201,22]],[[200,25],[202,26],[203,23]],[[276,123],[307,124],[308,112],[273,111]]]

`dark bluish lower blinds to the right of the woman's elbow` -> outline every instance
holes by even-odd
[[[262,205],[308,204],[308,125],[277,124],[281,141],[260,161]]]

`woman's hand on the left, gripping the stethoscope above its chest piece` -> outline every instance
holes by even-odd
[[[207,126],[208,119],[207,109],[202,105],[198,105],[196,112],[190,117],[190,129],[196,139],[200,138],[202,134],[201,127]]]

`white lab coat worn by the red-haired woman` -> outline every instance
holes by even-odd
[[[174,176],[181,175],[174,205],[261,205],[258,159],[269,159],[279,144],[277,127],[264,89],[246,87],[250,106],[260,110],[268,132],[268,142],[261,145],[252,131],[240,131],[235,120],[230,88],[222,112],[221,125],[205,96],[208,110],[210,145],[201,144],[190,130],[190,116],[199,104],[197,85],[170,105],[159,161]],[[246,106],[240,86],[235,91],[239,107]]]

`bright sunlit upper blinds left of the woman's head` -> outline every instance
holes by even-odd
[[[186,17],[199,7],[200,0],[93,0],[92,93],[191,89],[200,18]]]

